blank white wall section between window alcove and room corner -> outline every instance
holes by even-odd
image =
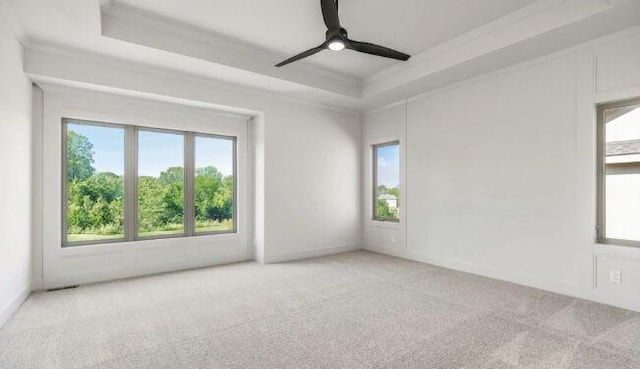
[[[359,115],[278,104],[266,114],[265,261],[361,247]]]

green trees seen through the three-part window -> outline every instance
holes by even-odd
[[[113,173],[96,173],[93,145],[69,130],[67,164],[67,233],[124,235],[124,179]],[[184,179],[182,167],[171,167],[156,177],[138,178],[138,231],[180,232],[184,229]],[[195,218],[198,230],[232,229],[233,177],[210,166],[196,170]],[[226,227],[226,228],[224,228]]]

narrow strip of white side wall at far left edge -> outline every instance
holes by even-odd
[[[0,326],[30,291],[31,83],[0,9]]]

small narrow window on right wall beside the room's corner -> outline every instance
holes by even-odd
[[[374,218],[400,219],[400,145],[374,146]]]

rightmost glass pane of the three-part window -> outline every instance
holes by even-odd
[[[233,232],[234,141],[196,137],[196,232]]]

